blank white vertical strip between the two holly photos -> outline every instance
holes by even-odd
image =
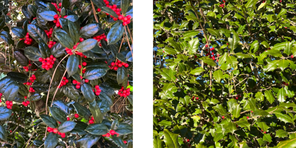
[[[153,148],[153,0],[133,0],[133,148]]]

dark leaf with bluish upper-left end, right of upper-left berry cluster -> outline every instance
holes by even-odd
[[[29,24],[27,30],[30,37],[32,37],[37,43],[39,43],[40,41],[44,41],[45,43],[47,43],[48,37],[45,31],[38,25]]]

